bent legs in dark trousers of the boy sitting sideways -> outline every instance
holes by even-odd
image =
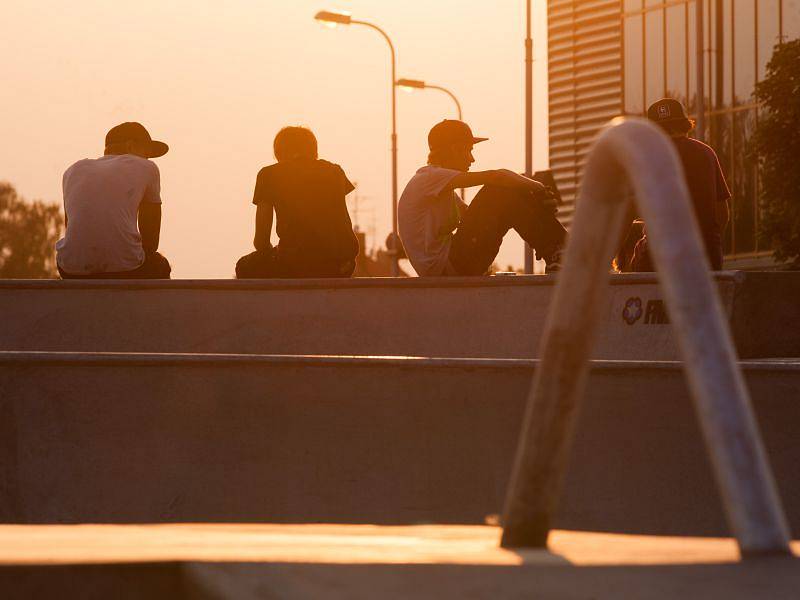
[[[536,255],[548,262],[567,236],[555,213],[530,194],[487,185],[470,203],[453,236],[449,257],[456,273],[486,273],[509,229],[519,233]]]

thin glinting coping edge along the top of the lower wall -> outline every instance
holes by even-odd
[[[525,358],[434,358],[427,356],[343,356],[295,354],[191,354],[149,352],[50,352],[0,351],[3,365],[59,366],[308,366],[394,367],[436,369],[533,369],[539,359]],[[800,358],[739,361],[744,371],[800,371]],[[594,371],[683,370],[672,360],[593,360]]]

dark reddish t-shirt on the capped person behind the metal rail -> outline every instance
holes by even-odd
[[[707,245],[719,244],[722,238],[715,206],[731,197],[728,184],[714,150],[692,138],[674,138],[675,149],[683,164],[683,173],[694,204],[700,232]]]

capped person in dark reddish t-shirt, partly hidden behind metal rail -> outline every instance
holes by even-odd
[[[708,261],[712,270],[719,271],[722,269],[722,234],[730,219],[728,201],[731,197],[719,159],[710,146],[689,137],[689,132],[694,129],[694,121],[677,100],[663,98],[654,102],[647,109],[647,118],[672,138],[683,165]],[[646,227],[645,223],[644,235],[636,243],[631,261],[633,271],[653,270]]]

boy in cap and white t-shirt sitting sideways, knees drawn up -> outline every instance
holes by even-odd
[[[567,234],[553,194],[509,170],[468,172],[473,145],[485,139],[453,120],[428,134],[428,165],[408,182],[398,206],[400,238],[420,276],[484,275],[512,228],[548,271],[560,267]],[[478,185],[483,189],[469,206],[455,192]]]

